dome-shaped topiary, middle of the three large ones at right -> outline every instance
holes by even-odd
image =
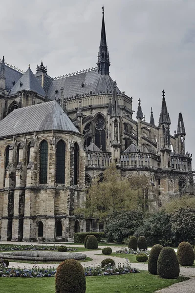
[[[179,276],[179,262],[172,247],[164,247],[158,256],[157,273],[165,279],[175,279]]]

